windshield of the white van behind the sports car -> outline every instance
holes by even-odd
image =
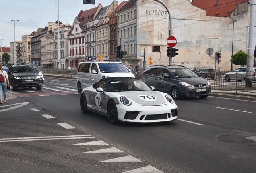
[[[130,72],[122,63],[99,63],[99,69],[102,73]]]

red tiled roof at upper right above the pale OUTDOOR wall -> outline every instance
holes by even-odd
[[[245,0],[193,0],[192,5],[206,10],[206,16],[226,17],[235,10],[236,5],[246,2]]]

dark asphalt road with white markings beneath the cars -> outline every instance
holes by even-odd
[[[255,173],[255,101],[175,101],[178,120],[118,123],[83,114],[74,80],[10,91],[0,105],[0,172]],[[16,105],[13,105],[16,104]],[[14,107],[14,108],[13,108]]]

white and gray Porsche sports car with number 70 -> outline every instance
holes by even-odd
[[[107,116],[113,124],[178,119],[178,108],[170,95],[152,91],[141,80],[128,77],[104,78],[83,89],[80,107],[83,113],[93,111]]]

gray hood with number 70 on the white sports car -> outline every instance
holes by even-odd
[[[157,91],[123,91],[117,92],[120,97],[126,96],[142,106],[165,105],[167,99]]]

